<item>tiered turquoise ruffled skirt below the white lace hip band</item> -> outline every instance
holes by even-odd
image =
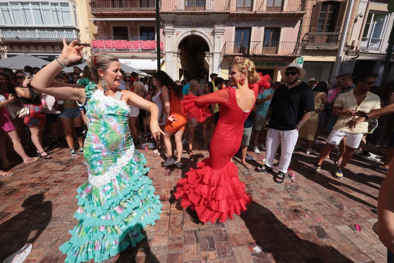
[[[145,163],[135,151],[111,183],[95,187],[86,181],[77,189],[80,207],[74,217],[79,222],[69,231],[71,239],[59,246],[67,254],[65,262],[101,262],[144,238],[140,229],[154,225],[162,213],[160,197],[154,195],[152,180],[145,176],[149,170]]]

